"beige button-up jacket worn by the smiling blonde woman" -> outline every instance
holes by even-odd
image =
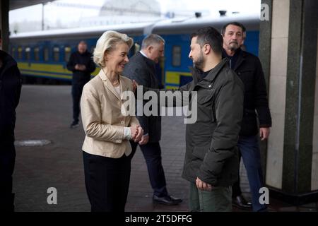
[[[119,81],[122,92],[132,90],[129,78],[119,76]],[[122,114],[123,102],[102,70],[84,85],[81,97],[81,116],[86,133],[83,151],[112,158],[131,153],[131,145],[124,139],[124,127],[139,125],[139,121],[134,116]]]

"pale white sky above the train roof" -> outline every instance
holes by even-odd
[[[152,0],[147,0],[152,1]],[[59,0],[61,3],[81,4],[90,6],[102,6],[105,0]],[[210,11],[211,14],[218,14],[220,9],[229,13],[240,11],[242,14],[257,14],[260,11],[261,0],[159,0],[162,13],[167,11]],[[65,22],[76,21],[83,17],[98,16],[98,9],[69,8],[56,4],[48,4],[45,7],[45,19],[49,21],[61,20]],[[42,18],[42,6],[29,6],[10,11],[10,23],[21,21],[40,21]]]

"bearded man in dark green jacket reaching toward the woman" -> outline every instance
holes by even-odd
[[[175,90],[191,95],[195,91],[197,95],[196,121],[187,124],[186,129],[182,173],[190,182],[191,211],[232,210],[231,186],[237,181],[239,167],[237,140],[244,86],[228,61],[222,60],[222,45],[223,37],[214,28],[194,33],[189,53],[194,63],[193,81]],[[143,92],[146,90],[153,89],[143,88]],[[189,96],[189,106],[193,107],[196,103],[191,100]]]

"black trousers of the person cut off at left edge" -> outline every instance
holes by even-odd
[[[0,211],[14,210],[12,174],[16,162],[13,141],[0,141]]]

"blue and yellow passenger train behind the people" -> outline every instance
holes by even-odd
[[[130,23],[109,25],[98,28],[76,28],[68,30],[48,30],[26,32],[10,37],[10,51],[18,61],[23,76],[71,81],[71,72],[66,69],[71,52],[76,51],[80,40],[88,43],[93,52],[95,44],[106,30],[124,32],[134,38],[135,45],[130,55],[138,51],[145,35],[153,32],[165,40],[165,58],[158,65],[158,78],[166,88],[178,88],[191,81],[188,66],[190,35],[196,29],[213,26],[221,29],[225,23],[239,21],[247,28],[245,47],[248,52],[258,55],[259,18],[257,16],[221,16],[219,18],[189,18],[184,20],[161,20],[156,23]],[[98,73],[99,69],[93,73]]]

